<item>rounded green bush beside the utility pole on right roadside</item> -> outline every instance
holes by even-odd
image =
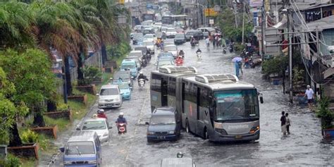
[[[285,71],[289,59],[287,56],[276,56],[262,63],[262,73],[264,75],[281,74]]]

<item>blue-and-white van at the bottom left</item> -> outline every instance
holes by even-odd
[[[102,151],[97,132],[73,132],[65,147],[61,147],[60,150],[63,152],[63,165],[66,167],[82,161],[86,161],[87,166],[101,166]]]

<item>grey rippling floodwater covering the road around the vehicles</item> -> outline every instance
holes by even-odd
[[[199,73],[235,73],[233,54],[222,54],[222,49],[206,49],[204,40],[200,42],[202,61],[197,61],[189,42],[178,46],[185,51],[184,66],[194,66]],[[156,55],[159,52],[156,51]],[[156,56],[142,69],[149,77]],[[251,143],[217,144],[200,137],[182,132],[177,142],[147,144],[145,121],[149,120],[151,108],[149,82],[144,89],[134,85],[132,97],[123,101],[119,109],[106,111],[111,125],[118,113],[125,113],[128,133],[118,135],[115,125],[111,130],[111,140],[102,144],[102,166],[159,166],[161,159],[175,157],[182,151],[192,157],[197,166],[332,166],[334,164],[334,144],[325,143],[321,136],[321,125],[315,114],[305,106],[290,105],[281,86],[270,85],[261,79],[261,69],[243,69],[240,80],[254,84],[264,94],[264,104],[260,104],[260,140]],[[97,111],[97,106],[92,107]],[[280,112],[289,113],[291,120],[288,137],[280,132]],[[92,112],[90,113],[92,114]],[[60,135],[56,144],[65,144],[70,132]],[[52,166],[61,166],[61,154]],[[46,163],[42,162],[41,166]]]

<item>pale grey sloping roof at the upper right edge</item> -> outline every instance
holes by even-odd
[[[309,30],[316,31],[316,26],[318,26],[318,31],[328,30],[334,28],[334,16],[328,16],[326,18],[321,18],[314,22],[307,23]]]

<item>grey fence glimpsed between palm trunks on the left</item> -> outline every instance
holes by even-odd
[[[94,66],[94,67],[98,67],[101,69],[101,63],[102,63],[101,58],[102,58],[101,51],[97,51],[94,54],[92,54],[92,56],[89,56],[89,58],[85,60],[85,66]],[[73,84],[77,80],[78,80],[78,67],[71,68],[70,69],[70,82],[72,82]],[[57,92],[58,94],[63,95],[63,80],[58,81],[57,79],[57,82],[60,83],[57,87]]]

